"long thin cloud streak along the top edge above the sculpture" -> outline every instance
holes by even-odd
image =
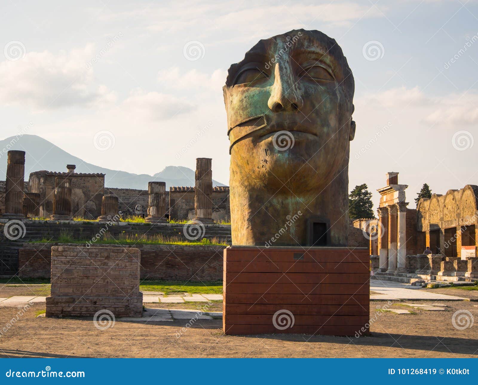
[[[386,8],[381,7],[381,11],[386,11]],[[135,20],[150,32],[183,33],[199,28],[201,36],[198,38],[214,35],[215,43],[219,43],[250,41],[297,28],[310,29],[316,23],[351,26],[362,18],[381,18],[383,14],[371,3],[361,5],[351,1],[327,1],[314,5],[279,5],[268,1],[266,4],[248,4],[247,9],[242,3],[228,1],[197,3],[194,6],[169,2],[167,5],[151,5],[145,9],[135,7],[99,17],[105,22]],[[238,33],[244,29],[247,29],[247,33]]]

